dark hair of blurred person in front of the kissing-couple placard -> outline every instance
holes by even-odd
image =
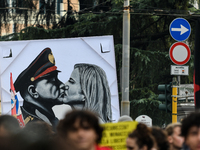
[[[68,131],[74,130],[74,123],[79,120],[81,128],[92,128],[97,134],[96,143],[102,138],[103,128],[99,124],[98,117],[88,110],[73,110],[65,115],[65,118],[59,121],[57,133],[60,137],[66,137]],[[85,125],[87,124],[87,126]]]

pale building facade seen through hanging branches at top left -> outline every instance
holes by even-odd
[[[79,0],[7,0],[4,5],[0,36],[20,32],[28,26],[50,28],[67,16],[69,8],[71,12],[80,10]]]

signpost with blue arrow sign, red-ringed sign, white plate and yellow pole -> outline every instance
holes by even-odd
[[[179,41],[170,47],[170,59],[176,65],[184,65],[190,60],[191,52],[189,46],[181,41],[188,39],[191,26],[186,19],[176,18],[171,22],[169,32],[174,40]],[[188,68],[184,66],[171,66],[171,74],[173,75],[188,75],[187,71]],[[172,82],[172,123],[175,122],[177,122],[177,81],[174,77]]]

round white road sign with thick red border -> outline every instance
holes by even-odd
[[[176,42],[170,47],[169,56],[173,63],[184,65],[190,60],[190,48],[183,42]]]

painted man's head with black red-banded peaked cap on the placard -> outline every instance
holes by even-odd
[[[61,104],[64,100],[64,84],[58,79],[58,70],[50,48],[45,48],[17,77],[14,87],[24,101]]]

